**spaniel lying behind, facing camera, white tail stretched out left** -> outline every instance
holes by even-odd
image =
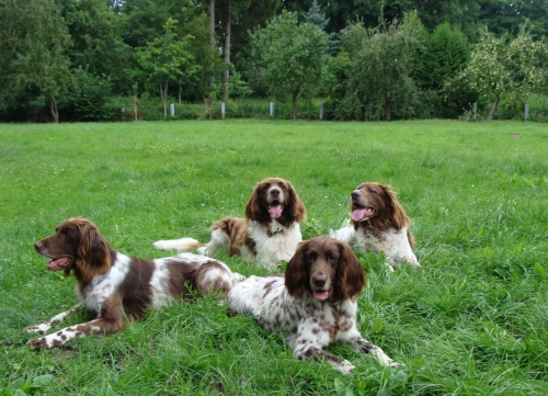
[[[269,178],[258,183],[246,205],[246,218],[225,217],[212,226],[212,240],[205,246],[193,238],[159,240],[157,249],[191,250],[198,248],[205,256],[219,251],[258,261],[274,270],[282,260],[288,261],[302,240],[299,223],[306,218],[306,207],[292,183]]]

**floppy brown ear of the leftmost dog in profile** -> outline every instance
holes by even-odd
[[[111,252],[109,242],[93,223],[82,219],[79,230],[77,269],[82,281],[90,282],[111,267]]]

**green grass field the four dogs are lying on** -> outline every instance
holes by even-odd
[[[356,365],[347,376],[297,361],[210,299],[67,348],[24,347],[25,326],[75,304],[73,279],[48,272],[33,248],[62,219],[89,217],[118,251],[157,258],[157,239],[207,240],[214,220],[241,216],[271,176],[307,205],[305,238],[341,226],[363,181],[399,193],[423,267],[391,274],[359,253],[358,327],[403,367],[345,346],[329,350]],[[547,184],[546,124],[0,125],[0,395],[546,395]]]

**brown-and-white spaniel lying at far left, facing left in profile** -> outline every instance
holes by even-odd
[[[175,297],[226,295],[239,279],[222,262],[203,256],[144,260],[122,254],[93,223],[80,217],[62,222],[54,235],[34,246],[39,254],[52,259],[48,270],[75,274],[80,304],[26,331],[45,335],[80,306],[96,314],[91,321],[27,342],[37,348],[57,347],[90,333],[119,331],[125,316],[138,319],[147,309],[165,306]]]

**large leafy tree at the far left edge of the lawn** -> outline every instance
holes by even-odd
[[[3,106],[35,92],[47,101],[52,117],[58,123],[56,97],[62,92],[69,75],[66,50],[71,45],[59,8],[53,0],[2,0],[1,5]]]

